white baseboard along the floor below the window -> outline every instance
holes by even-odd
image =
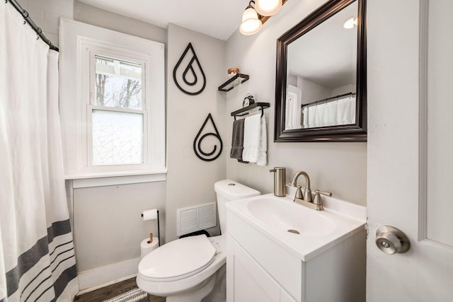
[[[140,257],[79,272],[79,295],[137,276]]]

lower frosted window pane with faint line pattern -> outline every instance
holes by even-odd
[[[93,110],[93,165],[143,163],[143,115]]]

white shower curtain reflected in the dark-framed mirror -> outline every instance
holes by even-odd
[[[307,105],[302,109],[304,128],[355,124],[355,96]]]

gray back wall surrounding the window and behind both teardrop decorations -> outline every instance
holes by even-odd
[[[217,87],[226,81],[224,41],[170,25],[167,30],[132,18],[74,3],[74,20],[144,37],[166,45],[167,165],[166,182],[80,188],[74,190],[74,236],[79,272],[139,257],[139,242],[147,236],[150,222],[139,220],[144,209],[161,211],[162,242],[176,239],[176,209],[215,201],[214,182],[225,178],[225,99]],[[173,67],[189,42],[207,77],[200,95],[182,93],[173,81]],[[64,51],[64,50],[63,50]],[[211,113],[224,140],[216,161],[195,156],[193,139]],[[216,235],[219,228],[212,228]],[[125,236],[129,234],[129,236]],[[115,242],[112,250],[110,242]]]

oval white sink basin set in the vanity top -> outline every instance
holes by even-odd
[[[287,231],[294,236],[324,236],[336,230],[335,223],[319,211],[275,198],[254,199],[248,202],[247,209],[271,228]]]

